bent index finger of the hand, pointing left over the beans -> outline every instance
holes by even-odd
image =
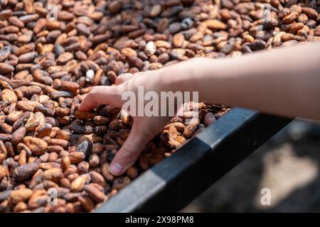
[[[122,106],[121,92],[118,87],[99,86],[94,87],[79,105],[80,111],[90,111],[97,104],[112,104],[117,107]]]

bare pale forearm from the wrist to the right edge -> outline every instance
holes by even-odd
[[[320,43],[176,66],[172,89],[198,91],[200,101],[283,116],[320,119]],[[169,78],[170,77],[170,78]]]

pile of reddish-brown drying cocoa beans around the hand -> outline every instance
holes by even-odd
[[[199,118],[173,118],[115,177],[132,117],[111,105],[79,111],[92,87],[191,57],[320,40],[319,9],[319,0],[1,1],[0,212],[92,211],[229,110],[191,103]]]

